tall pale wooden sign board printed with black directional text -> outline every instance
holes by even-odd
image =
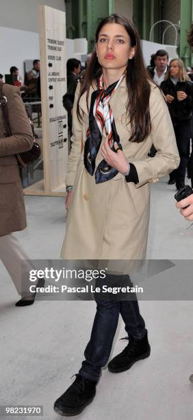
[[[62,105],[66,93],[66,14],[39,6],[40,80],[44,192],[65,191],[68,121]]]

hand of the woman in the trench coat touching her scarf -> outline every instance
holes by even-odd
[[[115,150],[118,148],[118,144],[114,143]],[[127,174],[129,172],[129,163],[127,162],[125,154],[122,150],[118,149],[118,152],[113,152],[108,143],[108,137],[101,147],[101,155],[108,165],[114,167],[120,174]]]

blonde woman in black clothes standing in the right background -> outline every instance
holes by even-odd
[[[170,61],[165,81],[160,87],[166,95],[180,156],[179,167],[170,173],[168,184],[176,183],[177,189],[181,189],[184,187],[185,170],[190,156],[192,117],[192,83],[182,60],[174,58]]]

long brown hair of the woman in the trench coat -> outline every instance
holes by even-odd
[[[128,89],[126,110],[131,124],[131,137],[129,140],[140,143],[151,132],[151,118],[149,112],[149,96],[151,91],[149,81],[151,79],[144,67],[142,50],[140,47],[140,37],[136,27],[131,21],[129,21],[129,19],[127,19],[127,17],[121,14],[112,14],[99,23],[95,36],[95,43],[98,41],[99,32],[101,32],[102,27],[106,23],[119,23],[120,25],[123,25],[131,39],[131,47],[136,47],[136,54],[131,60],[129,59],[126,69],[126,83]],[[80,98],[83,93],[86,92],[86,102],[88,106],[90,86],[94,82],[98,82],[101,73],[102,67],[99,64],[96,47],[94,46],[88,69],[86,70],[81,82],[81,90],[77,101],[77,115],[79,119],[81,119],[81,113],[79,110]]]

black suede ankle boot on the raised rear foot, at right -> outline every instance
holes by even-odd
[[[127,347],[110,361],[108,369],[112,373],[127,371],[138,360],[148,358],[150,350],[147,333],[141,340],[129,338]]]

